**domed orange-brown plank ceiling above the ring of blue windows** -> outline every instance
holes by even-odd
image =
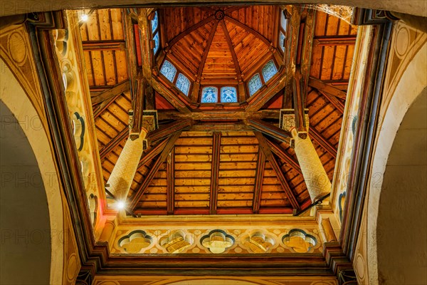
[[[273,55],[278,6],[159,9],[168,61],[192,81],[237,85]]]

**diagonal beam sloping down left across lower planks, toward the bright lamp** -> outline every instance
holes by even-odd
[[[175,133],[174,135],[172,135],[171,138],[169,138],[167,145],[164,147],[159,157],[157,157],[156,162],[154,162],[154,165],[151,167],[151,169],[147,173],[147,176],[145,177],[144,181],[142,182],[141,185],[139,185],[135,194],[132,197],[130,197],[129,205],[130,205],[130,209],[132,209],[132,212],[135,210],[135,207],[137,206],[142,195],[144,195],[145,190],[147,190],[147,187],[151,184],[153,178],[156,176],[160,166],[166,160],[166,157],[171,152],[172,148],[175,145],[176,140],[179,138],[179,135],[181,135],[181,132]]]

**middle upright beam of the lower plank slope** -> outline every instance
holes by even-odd
[[[209,213],[216,214],[218,199],[218,180],[219,180],[219,158],[221,152],[221,133],[214,133],[212,145],[212,167],[211,167],[211,196],[209,199]]]

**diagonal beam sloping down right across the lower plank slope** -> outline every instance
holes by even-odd
[[[263,150],[265,157],[270,162],[271,167],[273,167],[275,175],[278,177],[280,185],[282,185],[283,190],[285,191],[285,194],[288,197],[290,204],[292,205],[292,207],[294,209],[299,210],[300,204],[298,203],[297,198],[295,197],[292,190],[290,189],[288,180],[286,179],[285,175],[283,174],[283,171],[280,168],[278,160],[276,160],[275,156],[273,155],[273,153],[270,150],[270,147],[268,147],[267,139],[265,139],[263,134],[261,134],[259,132],[254,132],[254,133],[255,133],[255,137],[258,139],[261,150]]]

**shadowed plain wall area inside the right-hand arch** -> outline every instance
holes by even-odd
[[[384,172],[376,228],[379,284],[427,284],[426,173],[424,88],[402,120]]]

